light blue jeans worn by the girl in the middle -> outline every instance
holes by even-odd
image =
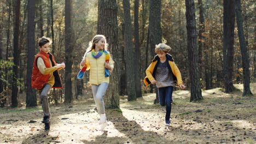
[[[98,113],[105,113],[105,105],[103,101],[104,93],[107,91],[108,83],[102,82],[100,85],[91,85],[92,94],[97,107]]]

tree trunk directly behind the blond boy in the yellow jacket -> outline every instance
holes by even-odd
[[[161,29],[161,0],[149,1],[149,45],[150,56],[153,59],[155,55],[155,45],[162,43],[162,29]],[[159,103],[158,89],[155,88],[156,99],[154,104]]]

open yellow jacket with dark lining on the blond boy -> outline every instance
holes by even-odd
[[[177,81],[177,85],[181,85],[183,84],[182,81],[182,76],[181,76],[181,72],[179,71],[177,65],[174,63],[174,59],[172,57],[172,55],[170,55],[169,53],[166,54],[166,61],[168,61],[168,69],[172,72],[173,74],[173,80]],[[146,86],[152,84],[151,81],[155,80],[155,72],[156,72],[156,68],[158,68],[158,64],[160,62],[160,58],[158,57],[158,55],[156,55],[154,57],[154,59],[152,60],[151,64],[149,65],[149,67],[146,70],[146,77],[144,78],[144,83]]]

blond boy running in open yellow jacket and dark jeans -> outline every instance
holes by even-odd
[[[155,52],[158,53],[146,70],[144,83],[146,86],[156,84],[158,87],[159,103],[166,105],[165,124],[170,126],[170,115],[172,109],[172,91],[177,85],[184,89],[181,72],[168,52],[171,47],[166,44],[158,44]]]

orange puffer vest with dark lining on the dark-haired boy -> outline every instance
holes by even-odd
[[[32,88],[42,89],[44,84],[48,82],[50,74],[43,75],[39,71],[39,69],[37,67],[37,58],[38,57],[43,59],[46,68],[50,68],[51,65],[53,65],[53,67],[54,67],[56,65],[56,62],[54,60],[54,56],[50,52],[47,54],[43,51],[40,51],[39,53],[37,53],[36,57],[34,58],[32,77],[31,77],[32,78],[31,86],[32,86]],[[51,64],[50,64],[49,58],[50,58]],[[61,78],[60,78],[58,70],[55,70],[53,72],[53,75],[54,75],[54,80],[55,80],[53,88],[62,88],[62,82],[61,82]]]

